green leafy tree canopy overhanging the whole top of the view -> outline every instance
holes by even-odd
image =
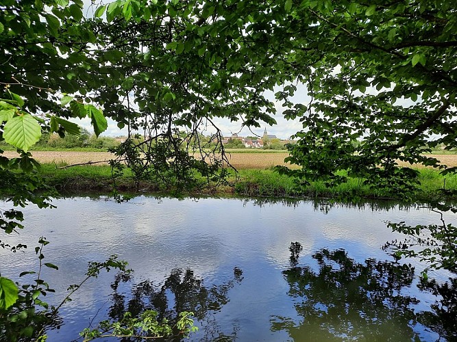
[[[274,124],[267,91],[286,118],[303,124],[289,146],[289,161],[301,168],[283,171],[306,181],[345,181],[338,172],[349,170],[373,186],[410,189],[416,174],[397,160],[436,166],[422,153],[455,147],[449,1],[118,0],[95,5],[94,17],[82,16],[79,1],[41,4],[5,1],[3,83],[32,114],[88,116],[98,134],[106,128],[102,108],[119,127],[142,131],[144,142],[119,149],[120,158],[151,155],[135,159],[142,174],[164,163],[166,170],[200,165],[193,159],[214,163],[208,153],[180,153],[205,150],[195,136],[208,126],[217,132],[211,141],[220,141],[214,118]],[[309,103],[293,103],[297,92]],[[53,122],[53,130],[71,130]],[[212,150],[223,158],[221,144]]]

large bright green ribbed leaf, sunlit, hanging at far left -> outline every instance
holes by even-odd
[[[40,124],[30,114],[16,116],[6,122],[3,139],[8,144],[27,152],[41,137]]]

